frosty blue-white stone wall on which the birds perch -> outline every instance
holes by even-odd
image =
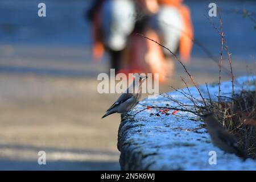
[[[243,76],[236,79],[234,91],[254,90],[255,76]],[[208,97],[207,89],[200,85],[204,97]],[[208,85],[212,99],[217,100],[218,84]],[[193,96],[200,99],[195,87],[189,88]],[[187,92],[187,88],[184,89]],[[221,83],[221,95],[231,96],[232,82]],[[177,92],[167,93],[183,103],[191,104]],[[173,102],[159,96],[155,100],[143,100],[143,105],[175,106]],[[129,114],[137,113],[143,108],[137,105]],[[134,119],[124,118],[118,131],[118,150],[121,151],[120,164],[122,170],[256,170],[256,160],[243,162],[234,154],[224,154],[213,146],[206,129],[201,127],[203,121],[196,115],[179,111],[177,115],[152,115],[156,110],[144,110]],[[217,164],[210,165],[209,151],[216,151]]]

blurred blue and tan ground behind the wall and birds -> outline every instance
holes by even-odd
[[[86,12],[94,1],[45,0],[47,16],[41,18],[40,2],[0,1],[0,169],[118,170],[120,115],[101,119],[118,95],[97,92],[97,75],[109,72],[111,57],[105,52],[94,61],[92,55]],[[205,17],[210,2],[183,2],[197,41],[186,65],[199,84],[218,80],[218,64],[205,51],[220,57],[220,36]],[[221,1],[218,6],[234,76],[254,73],[256,2]],[[218,17],[212,21],[219,27]],[[226,57],[224,66],[229,66]],[[180,76],[186,78],[175,64],[160,92],[170,92],[169,85],[183,88]],[[222,79],[230,76],[223,73]],[[46,165],[38,164],[41,150]]]

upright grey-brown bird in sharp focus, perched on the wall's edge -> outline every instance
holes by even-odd
[[[106,116],[114,113],[127,113],[130,109],[133,109],[141,99],[142,93],[142,83],[147,79],[147,76],[139,75],[138,73],[134,74],[134,80],[127,88],[125,93],[122,93],[121,96],[114,102],[112,106],[106,111],[106,114],[102,116],[105,118]]]

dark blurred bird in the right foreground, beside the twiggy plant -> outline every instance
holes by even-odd
[[[243,160],[247,158],[245,152],[238,148],[237,138],[222,127],[213,113],[205,114],[202,118],[205,121],[210,138],[215,146],[226,153],[236,154]]]

